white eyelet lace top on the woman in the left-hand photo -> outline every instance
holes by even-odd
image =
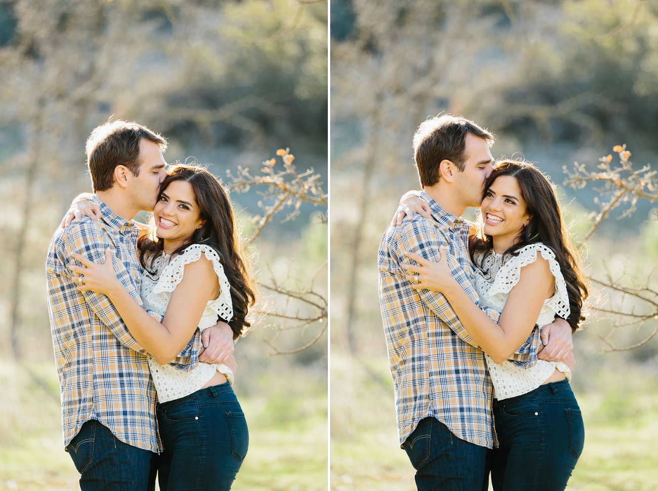
[[[213,268],[215,268],[215,273],[219,278],[219,296],[215,300],[209,300],[201,315],[199,329],[203,331],[207,327],[212,327],[217,323],[219,316],[222,319],[230,320],[233,317],[231,285],[229,285],[226,273],[224,273],[224,266],[222,266],[215,249],[201,244],[189,246],[182,254],[174,256],[173,259],[171,256],[163,254],[153,261],[151,269],[154,273],[151,274],[145,271],[141,281],[141,299],[144,308],[155,310],[164,315],[172,292],[183,279],[185,265],[198,261],[202,253],[213,262]],[[196,392],[213,378],[215,371],[223,373],[226,379],[233,383],[233,372],[226,365],[209,365],[208,363],[199,362],[195,369],[186,372],[171,365],[161,365],[151,356],[148,358],[159,402],[180,399]]]

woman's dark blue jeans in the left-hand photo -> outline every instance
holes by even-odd
[[[161,491],[230,490],[247,454],[245,415],[230,384],[158,404]]]

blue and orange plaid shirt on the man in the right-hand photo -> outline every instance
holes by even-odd
[[[404,268],[415,252],[439,260],[439,248],[449,248],[459,263],[453,276],[479,305],[473,266],[468,257],[470,224],[448,214],[426,193],[432,209],[426,220],[415,214],[399,227],[386,229],[378,254],[379,296],[395,387],[397,431],[402,444],[424,417],[435,417],[463,440],[492,448],[495,444],[493,386],[484,352],[465,331],[449,302],[439,292],[416,291],[405,279]],[[500,313],[486,309],[497,321]],[[539,330],[534,329],[513,361],[536,363]]]

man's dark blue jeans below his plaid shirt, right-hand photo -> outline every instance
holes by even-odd
[[[486,491],[487,448],[457,438],[438,419],[426,417],[402,444],[416,469],[419,491]]]

